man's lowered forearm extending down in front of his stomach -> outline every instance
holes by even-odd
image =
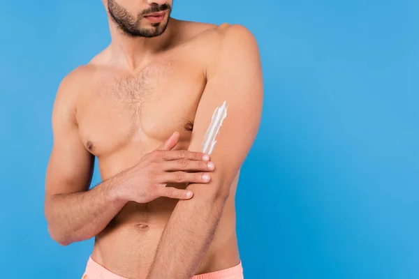
[[[197,187],[191,189],[195,193],[194,198],[179,202],[173,211],[147,278],[186,279],[196,273],[212,241],[226,201],[226,197],[218,193],[205,190],[200,193]]]

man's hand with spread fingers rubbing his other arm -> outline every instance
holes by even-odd
[[[191,190],[166,187],[167,183],[208,183],[214,163],[204,153],[186,150],[172,151],[179,133],[172,136],[140,162],[117,175],[122,185],[115,188],[117,199],[126,202],[151,202],[158,197],[191,199]]]

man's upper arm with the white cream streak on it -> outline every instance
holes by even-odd
[[[198,105],[189,150],[202,151],[201,143],[212,114],[226,101],[227,117],[211,154],[216,166],[211,184],[219,186],[219,190],[226,190],[223,193],[228,195],[228,186],[258,132],[263,79],[258,45],[251,33],[237,25],[226,27],[221,32],[219,59],[207,70],[207,86]],[[194,193],[200,191],[193,184],[191,186]]]

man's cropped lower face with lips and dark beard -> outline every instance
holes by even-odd
[[[108,13],[131,37],[160,36],[168,27],[172,0],[108,0]]]

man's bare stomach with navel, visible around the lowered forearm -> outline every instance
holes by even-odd
[[[235,192],[237,178],[233,184],[231,189]],[[92,259],[119,276],[146,278],[161,234],[176,204],[177,199],[166,197],[147,204],[128,202],[96,236]],[[239,262],[232,193],[226,201],[214,238],[196,274],[228,269]]]

